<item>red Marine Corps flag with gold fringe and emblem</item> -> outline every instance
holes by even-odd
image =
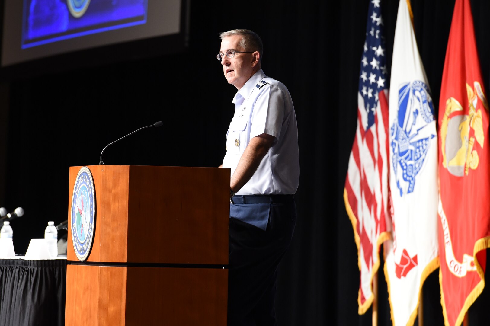
[[[485,286],[490,247],[489,106],[469,0],[456,0],[439,103],[439,254],[445,324],[460,325]]]

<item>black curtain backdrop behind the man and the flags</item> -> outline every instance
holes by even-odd
[[[69,166],[98,164],[105,145],[140,126],[164,123],[109,147],[106,164],[219,166],[236,89],[216,60],[218,34],[249,28],[263,39],[265,73],[291,92],[299,130],[298,220],[278,271],[278,324],[371,325],[371,309],[357,314],[357,249],[343,204],[369,1],[333,2],[191,1],[183,52],[121,59],[102,49],[77,56],[90,63],[62,55],[1,70],[0,206],[25,208],[11,223],[16,252],[43,237],[48,221],[67,219]],[[382,8],[390,68],[398,1]],[[454,0],[413,0],[412,8],[437,110]],[[490,2],[472,8],[488,95]],[[139,43],[140,54],[149,44]],[[443,325],[439,291],[436,271],[424,285],[425,325]],[[486,325],[489,292],[470,308],[470,325]],[[391,325],[382,272],[378,315],[378,325]]]

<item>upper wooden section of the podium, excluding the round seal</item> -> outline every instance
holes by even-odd
[[[70,168],[69,221],[78,170]],[[229,169],[94,165],[88,262],[228,264]],[[68,228],[69,261],[77,261]]]

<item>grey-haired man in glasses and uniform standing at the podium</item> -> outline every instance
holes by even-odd
[[[261,69],[260,37],[234,29],[220,38],[218,60],[238,89],[221,165],[231,169],[228,325],[275,325],[276,269],[296,221],[296,116],[286,86]]]

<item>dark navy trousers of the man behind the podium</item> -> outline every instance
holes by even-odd
[[[291,243],[296,224],[293,196],[268,203],[265,230],[233,217],[254,214],[264,204],[230,204],[228,271],[228,326],[276,325],[274,301],[276,269]],[[289,200],[290,199],[290,200]],[[259,215],[261,213],[259,212]]]

